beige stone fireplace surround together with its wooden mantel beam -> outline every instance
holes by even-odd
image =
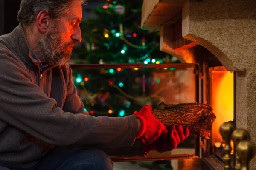
[[[160,49],[183,63],[204,68],[205,61],[217,60],[236,71],[236,127],[248,130],[256,144],[255,0],[144,0],[141,28],[160,30]]]

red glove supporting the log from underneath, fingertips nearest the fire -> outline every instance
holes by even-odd
[[[176,129],[173,125],[169,132],[170,136],[168,139],[162,139],[160,137],[159,140],[144,146],[145,152],[151,153],[152,150],[156,150],[157,152],[169,152],[175,149],[180,142],[183,142],[183,140],[189,136],[189,129],[187,127],[182,129],[181,125],[177,125]]]

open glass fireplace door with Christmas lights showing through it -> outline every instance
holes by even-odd
[[[153,110],[160,102],[199,102],[198,64],[70,65],[77,93],[91,116],[123,117]],[[113,132],[114,133],[114,132]],[[89,139],[88,139],[89,140]],[[113,161],[189,159],[199,156],[199,137],[190,135],[175,150],[147,157],[111,157]]]

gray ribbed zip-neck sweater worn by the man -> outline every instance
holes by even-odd
[[[21,24],[0,36],[0,163],[31,167],[58,146],[143,156],[134,115],[90,116],[68,64],[40,70]]]

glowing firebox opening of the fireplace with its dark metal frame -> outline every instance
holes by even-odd
[[[224,146],[225,141],[220,134],[220,127],[225,122],[235,122],[234,89],[236,73],[227,71],[220,63],[204,63],[203,94],[204,103],[211,105],[216,119],[212,125],[210,140],[203,140],[203,170],[224,170]],[[231,154],[235,160],[234,145],[231,141]],[[232,167],[235,162],[232,162]]]

